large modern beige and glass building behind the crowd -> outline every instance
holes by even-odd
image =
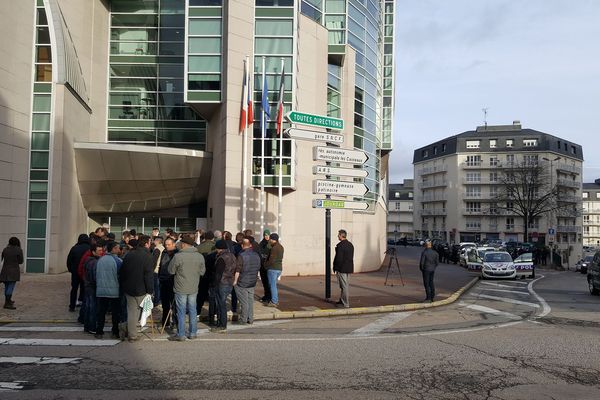
[[[369,204],[361,212],[335,210],[333,227],[363,244],[358,270],[379,268],[392,150],[394,6],[11,1],[0,16],[5,36],[18,38],[0,45],[0,68],[8,71],[0,77],[0,240],[24,239],[26,271],[61,272],[77,235],[98,225],[117,236],[153,227],[235,233],[258,232],[264,220],[271,231],[281,226],[286,274],[322,273],[324,212],[312,208],[320,197],[313,180],[324,178],[312,170],[318,143],[277,135],[283,85],[285,112],[343,119],[342,147],[368,155],[363,166],[345,165],[365,169],[366,178],[329,177],[368,188],[360,197],[333,196]],[[239,128],[246,59],[254,110],[247,135]]]

